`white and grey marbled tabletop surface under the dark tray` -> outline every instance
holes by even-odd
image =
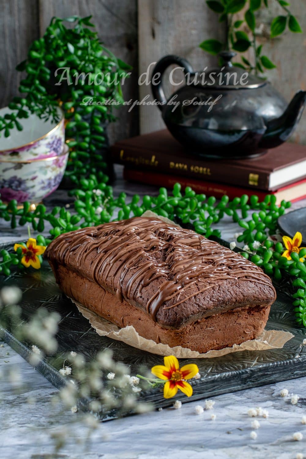
[[[117,168],[120,176],[121,169]],[[153,187],[126,185],[117,180],[115,191],[128,195],[154,192]],[[156,191],[156,189],[155,189]],[[62,191],[52,195],[52,205],[67,203]],[[298,202],[293,208],[306,205]],[[219,224],[224,239],[231,241],[238,231],[236,224],[225,220]],[[0,222],[0,242],[27,237],[27,229],[11,230]],[[14,390],[11,375],[18,367],[22,374],[22,390]],[[0,458],[3,459],[153,459],[192,457],[193,459],[277,458],[294,459],[297,453],[306,458],[306,377],[261,386],[214,397],[213,410],[195,414],[195,406],[204,401],[186,403],[180,409],[168,408],[148,414],[101,423],[87,441],[88,428],[79,414],[52,403],[57,392],[49,381],[33,369],[6,343],[0,343]],[[281,389],[297,394],[298,403],[281,397]],[[248,409],[267,409],[269,416],[250,418]],[[211,414],[216,420],[211,420]],[[257,438],[252,439],[251,422],[260,422]],[[73,422],[72,422],[73,421]],[[304,438],[294,441],[293,434]],[[56,452],[52,438],[65,436],[66,442]]]

